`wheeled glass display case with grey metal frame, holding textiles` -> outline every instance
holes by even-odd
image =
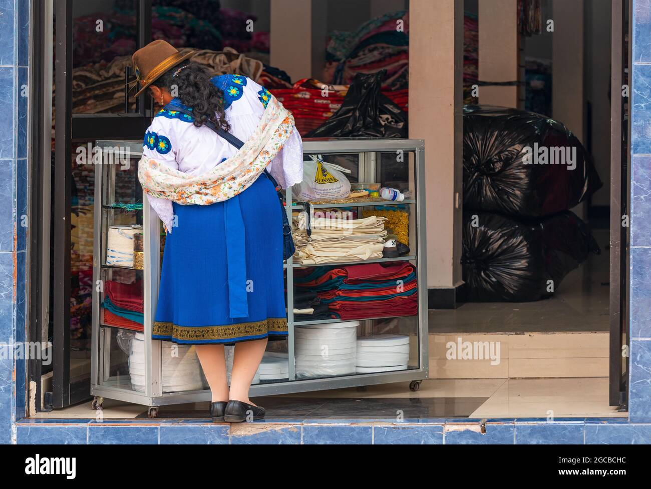
[[[94,407],[108,397],[153,417],[156,406],[209,401],[194,348],[151,338],[165,233],[137,181],[142,143],[96,146]],[[310,178],[284,199],[297,248],[283,264],[288,337],[268,343],[251,395],[400,381],[417,390],[428,375],[424,143],[311,139],[303,152]],[[344,193],[315,198],[312,180]]]

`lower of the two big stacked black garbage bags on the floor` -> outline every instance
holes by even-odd
[[[529,302],[547,297],[590,252],[598,254],[599,247],[583,221],[570,211],[527,221],[466,212],[465,284],[460,297],[468,302]]]

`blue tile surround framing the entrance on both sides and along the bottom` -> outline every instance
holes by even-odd
[[[25,339],[29,2],[0,0],[0,347]],[[630,420],[472,420],[394,425],[256,423],[238,427],[155,421],[100,425],[24,416],[25,365],[0,358],[0,443],[651,443],[651,0],[633,0],[631,66]],[[269,420],[271,421],[271,420]],[[359,420],[361,421],[361,420]],[[370,422],[373,421],[373,422]],[[637,424],[636,424],[637,423]],[[643,423],[643,424],[639,424]]]

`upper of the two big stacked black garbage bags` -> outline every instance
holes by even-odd
[[[464,107],[465,209],[544,217],[574,207],[601,186],[589,154],[560,122],[505,107]]]

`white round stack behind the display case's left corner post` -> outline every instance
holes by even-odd
[[[199,357],[192,346],[162,341],[163,392],[203,390]],[[136,333],[129,353],[129,375],[134,391],[145,392],[145,335]]]

